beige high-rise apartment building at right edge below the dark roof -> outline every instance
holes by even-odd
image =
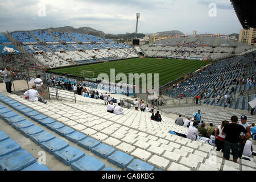
[[[250,46],[256,46],[256,28],[241,29],[238,41],[240,43],[248,44]]]

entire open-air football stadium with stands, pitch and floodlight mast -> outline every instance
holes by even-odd
[[[255,2],[229,3],[255,30]],[[131,44],[67,27],[1,33],[0,170],[256,170],[255,42],[195,33],[140,45],[139,18]],[[224,136],[234,115],[247,130],[238,159]]]

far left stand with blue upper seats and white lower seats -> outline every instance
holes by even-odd
[[[49,68],[96,63],[100,60],[138,57],[126,44],[73,32],[15,32],[14,39],[32,57]]]

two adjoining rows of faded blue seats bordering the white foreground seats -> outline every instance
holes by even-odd
[[[0,100],[8,104],[9,106],[15,108],[20,113],[30,117],[34,121],[46,126],[48,129],[55,131],[62,137],[77,143],[79,146],[85,148],[86,150],[92,151],[93,154],[100,156],[102,159],[107,159],[110,163],[115,164],[120,168],[126,168],[127,170],[142,170],[142,171],[152,171],[155,169],[154,166],[142,162],[141,160],[134,160],[133,156],[127,155],[124,152],[116,151],[115,149],[100,143],[96,139],[89,138],[86,135],[79,133],[71,129],[70,127],[64,126],[63,124],[54,121],[51,118],[46,117],[46,115],[40,114],[28,107],[19,104],[18,102],[1,95]],[[19,105],[19,106],[17,106]],[[4,107],[4,106],[2,106]],[[90,155],[86,155],[81,150],[76,147],[69,146],[67,142],[59,138],[55,138],[54,135],[40,129],[40,127],[33,125],[32,122],[25,120],[23,117],[13,111],[7,111],[1,109],[1,116],[6,115],[6,121],[10,123],[15,129],[19,130],[26,137],[54,155],[55,158],[59,159],[61,162],[67,166],[71,166],[74,170],[86,170],[86,171],[98,171],[105,168],[105,164],[100,160],[93,158]],[[85,157],[84,157],[85,156]],[[132,162],[133,161],[133,162]],[[132,163],[131,163],[132,162]],[[130,164],[128,166],[128,164]],[[0,163],[1,165],[1,163]],[[114,171],[113,168],[106,167],[104,171]]]

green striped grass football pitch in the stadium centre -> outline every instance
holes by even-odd
[[[154,84],[154,73],[159,73],[159,86],[162,86],[182,77],[184,73],[187,74],[196,71],[209,63],[210,61],[156,59],[145,57],[55,69],[50,72],[67,73],[73,76],[83,77],[83,71],[93,71],[94,77],[96,78],[100,73],[106,73],[110,79],[110,69],[115,69],[115,75],[118,73],[125,73],[127,76],[127,83],[129,83],[129,73],[138,73],[139,75],[141,73],[152,73],[152,84]]]

